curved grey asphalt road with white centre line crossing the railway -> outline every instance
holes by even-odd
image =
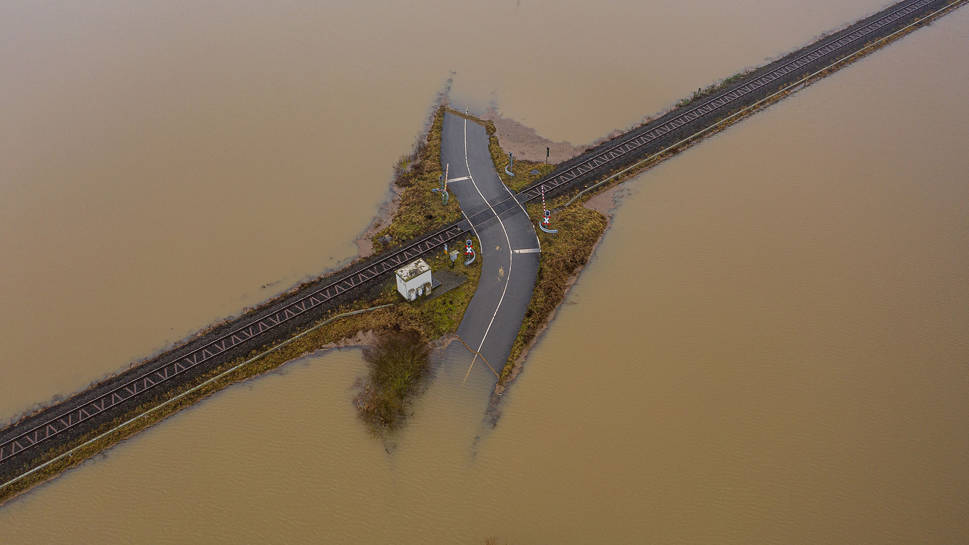
[[[500,372],[528,309],[539,272],[539,239],[524,208],[494,171],[485,127],[445,113],[441,137],[442,167],[448,167],[448,190],[472,222],[481,247],[475,248],[482,277],[457,335],[481,352]],[[460,248],[460,249],[463,249]],[[459,256],[460,258],[460,256]],[[470,366],[490,373],[478,356],[467,352]]]

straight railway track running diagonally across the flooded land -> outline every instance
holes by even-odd
[[[890,11],[885,15],[867,23],[859,23],[858,28],[852,29],[852,27],[849,27],[837,39],[831,40],[823,46],[811,48],[783,65],[765,74],[756,76],[753,80],[743,82],[730,90],[716,95],[704,101],[699,106],[675,115],[656,126],[650,127],[647,125],[645,127],[646,130],[637,129],[632,131],[631,133],[641,132],[634,134],[632,138],[626,139],[618,144],[608,146],[602,150],[593,151],[588,157],[580,159],[578,164],[535,183],[519,192],[516,196],[509,197],[502,203],[499,203],[494,208],[500,214],[509,208],[517,208],[519,205],[541,198],[542,185],[546,186],[547,191],[551,191],[568,184],[579,176],[595,174],[599,171],[608,171],[617,165],[621,165],[623,161],[627,160],[630,156],[634,156],[643,146],[651,144],[672,131],[696,121],[703,115],[731,108],[744,97],[755,93],[772,81],[784,78],[829,55],[848,51],[853,53],[860,50],[857,47],[860,44],[864,44],[863,40],[865,37],[906,16],[911,16],[933,3],[938,3],[938,0],[913,0],[911,2],[900,3],[890,8]],[[280,324],[293,320],[297,316],[304,315],[313,308],[324,305],[333,298],[358,288],[360,285],[370,282],[385,272],[392,271],[410,260],[416,259],[447,241],[459,237],[470,230],[473,223],[477,225],[475,223],[476,221],[487,221],[493,217],[495,217],[494,213],[490,210],[484,210],[464,220],[447,225],[422,240],[392,252],[390,255],[368,265],[362,270],[347,274],[309,295],[300,297],[292,303],[272,310],[265,316],[257,318],[245,326],[236,328],[214,340],[207,341],[202,346],[156,369],[145,371],[137,378],[128,380],[93,401],[86,401],[69,410],[60,411],[57,416],[49,418],[41,424],[32,426],[29,430],[16,433],[4,439],[3,442],[0,442],[0,462],[7,461],[16,456],[16,454],[41,444],[59,433],[70,430],[80,423],[104,413],[119,403],[141,396],[143,393],[157,388],[159,385],[172,380],[172,378],[183,374],[189,369],[197,368],[204,362],[210,361],[212,358],[223,354],[235,346],[246,343],[253,338],[260,337],[266,334],[266,332],[275,329]],[[66,402],[70,402],[70,400]],[[8,430],[8,433],[10,431]]]

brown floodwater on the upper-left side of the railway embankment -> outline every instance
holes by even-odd
[[[0,422],[351,259],[452,71],[585,143],[883,4],[5,2]]]

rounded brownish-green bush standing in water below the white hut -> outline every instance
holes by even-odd
[[[363,360],[370,370],[356,399],[360,417],[375,430],[394,428],[427,372],[430,345],[417,330],[391,331],[363,350]]]

